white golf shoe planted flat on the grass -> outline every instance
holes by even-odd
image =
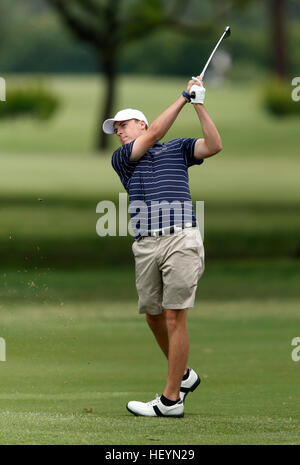
[[[132,400],[126,405],[127,410],[135,416],[142,417],[173,417],[182,418],[184,416],[184,407],[182,400],[176,404],[167,407],[156,394],[156,398],[150,402],[137,402]]]

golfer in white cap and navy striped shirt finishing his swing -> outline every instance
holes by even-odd
[[[191,86],[196,89],[192,98]],[[204,97],[205,88],[197,76],[152,124],[142,112],[130,108],[103,123],[103,131],[116,134],[121,144],[112,156],[112,166],[129,194],[139,313],[146,315],[168,360],[162,395],[150,402],[128,402],[126,407],[134,415],[183,417],[185,397],[200,383],[198,374],[187,366],[187,313],[194,306],[204,271],[204,247],[188,168],[201,165],[204,158],[222,149]],[[159,142],[188,102],[194,106],[203,138]]]

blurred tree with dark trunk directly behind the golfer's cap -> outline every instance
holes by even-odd
[[[191,21],[195,11],[190,0],[48,0],[75,35],[92,44],[106,80],[101,121],[110,117],[116,100],[116,70],[121,50],[163,27],[189,34],[207,35],[214,21]],[[208,5],[208,2],[204,2]],[[200,9],[201,11],[201,9]],[[218,10],[218,15],[221,11]],[[108,139],[97,129],[97,149],[106,149]]]

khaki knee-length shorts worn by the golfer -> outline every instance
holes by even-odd
[[[175,234],[146,236],[132,244],[139,313],[158,315],[163,309],[194,306],[204,272],[204,247],[197,227]]]

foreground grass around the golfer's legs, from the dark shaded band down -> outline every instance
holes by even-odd
[[[0,443],[299,444],[299,275],[288,261],[207,264],[188,323],[202,383],[172,420],[125,408],[167,374],[132,269],[4,273]]]

